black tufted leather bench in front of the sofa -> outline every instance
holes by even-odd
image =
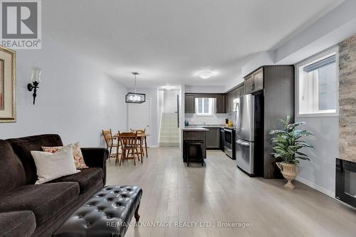
[[[53,234],[56,237],[125,236],[138,209],[142,189],[138,186],[105,186],[80,206]]]

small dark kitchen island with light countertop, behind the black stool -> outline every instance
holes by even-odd
[[[184,127],[182,129],[183,135],[183,161],[186,161],[186,157],[184,157],[184,154],[187,152],[187,147],[186,143],[184,141],[187,140],[201,140],[203,141],[203,144],[201,145],[201,150],[203,152],[203,158],[206,159],[206,132],[209,132],[208,129],[204,127]],[[196,150],[192,149],[189,151],[191,154],[191,157],[197,157],[197,152]]]

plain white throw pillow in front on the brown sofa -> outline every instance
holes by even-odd
[[[38,180],[36,184],[43,184],[53,179],[80,172],[80,170],[75,169],[73,146],[71,144],[56,153],[32,151],[31,154],[37,168]]]

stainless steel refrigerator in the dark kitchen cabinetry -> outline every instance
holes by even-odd
[[[258,174],[256,149],[263,149],[258,142],[261,135],[261,100],[263,95],[243,95],[236,104],[236,164],[248,175]],[[261,157],[263,159],[263,157]],[[261,159],[261,160],[262,160]],[[257,165],[257,166],[256,166]]]

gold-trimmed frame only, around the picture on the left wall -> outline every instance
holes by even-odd
[[[13,51],[4,46],[0,46],[0,51],[4,53],[8,53],[11,56],[11,116],[1,117],[0,122],[16,122],[16,51]],[[4,68],[6,61],[4,60]],[[4,69],[5,70],[5,69]],[[4,78],[5,81],[5,73]],[[4,94],[9,93],[6,92],[6,88],[4,88]],[[6,95],[4,95],[6,96]]]

